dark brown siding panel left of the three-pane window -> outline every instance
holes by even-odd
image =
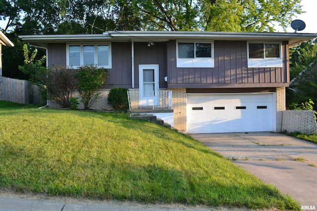
[[[48,43],[48,65],[66,65],[66,43]]]

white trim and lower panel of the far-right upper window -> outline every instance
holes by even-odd
[[[279,58],[249,58],[249,43],[279,44]],[[283,67],[282,42],[248,42],[247,43],[248,67],[249,68],[269,68]]]

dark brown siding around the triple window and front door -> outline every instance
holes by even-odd
[[[48,44],[48,64],[66,65],[66,43]],[[131,42],[111,43],[111,64],[108,78],[103,88],[132,88],[132,52]],[[139,65],[159,64],[159,88],[166,88],[164,77],[167,76],[166,44],[155,43],[149,47],[148,42],[134,43],[134,84],[139,88]]]

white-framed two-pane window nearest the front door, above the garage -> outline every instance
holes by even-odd
[[[213,42],[177,42],[177,67],[214,67]]]

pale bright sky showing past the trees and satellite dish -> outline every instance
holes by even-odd
[[[302,10],[306,11],[303,14],[297,15],[297,17],[294,17],[295,19],[300,19],[305,22],[306,28],[303,31],[300,31],[298,33],[317,33],[317,0],[302,0],[301,4],[303,5]],[[0,21],[0,27],[5,27],[5,22]],[[284,32],[282,28],[275,27],[276,32]],[[293,33],[294,29],[291,27],[286,29],[286,32]]]

